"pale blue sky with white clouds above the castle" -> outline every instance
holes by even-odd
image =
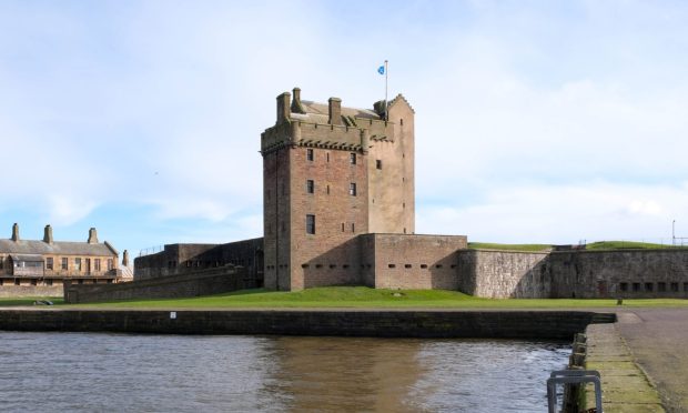
[[[416,113],[416,233],[671,243],[686,21],[684,1],[0,0],[0,238],[262,236],[275,98],[372,108],[388,60]]]

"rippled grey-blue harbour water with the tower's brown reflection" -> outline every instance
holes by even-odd
[[[564,344],[0,332],[0,411],[543,412]]]

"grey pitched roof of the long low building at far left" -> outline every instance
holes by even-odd
[[[53,254],[53,255],[117,255],[108,243],[55,241],[49,244],[34,240],[0,240],[0,253],[4,254]]]

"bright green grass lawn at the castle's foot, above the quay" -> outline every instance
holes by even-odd
[[[30,305],[28,303],[27,305]],[[60,302],[61,303],[61,302]],[[0,300],[0,305],[4,302]],[[616,300],[493,300],[445,290],[375,290],[332,286],[297,292],[244,290],[194,299],[138,300],[110,303],[62,304],[61,308],[98,309],[232,309],[232,308],[353,308],[353,309],[560,309],[613,308]],[[624,306],[688,306],[688,300],[624,300]]]

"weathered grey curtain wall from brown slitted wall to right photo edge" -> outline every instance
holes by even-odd
[[[482,298],[688,298],[688,250],[465,250],[458,261],[458,290]]]

